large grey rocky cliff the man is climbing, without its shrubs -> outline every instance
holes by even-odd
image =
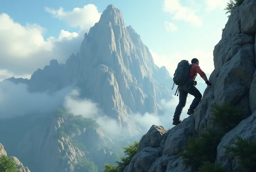
[[[213,114],[210,107],[227,101],[245,109],[245,114],[243,120],[222,137],[215,163],[222,163],[227,170],[239,170],[238,158],[222,146],[233,145],[236,134],[246,140],[256,140],[255,14],[256,0],[245,0],[233,10],[213,52],[215,69],[209,78],[213,87],[205,90],[194,114],[171,130],[153,125],[140,140],[138,153],[125,172],[197,171],[193,166],[185,166],[177,153],[188,144],[188,136],[195,137],[207,127],[215,127],[208,120]]]

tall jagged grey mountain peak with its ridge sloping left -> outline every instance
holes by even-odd
[[[161,114],[160,100],[170,100],[172,83],[167,69],[154,64],[149,48],[131,26],[125,26],[121,11],[113,5],[107,6],[99,22],[85,33],[80,52],[65,64],[51,60],[30,80],[8,80],[26,83],[32,92],[77,86],[81,96],[98,103],[120,126],[128,125],[131,136],[138,135],[140,129],[128,114]]]

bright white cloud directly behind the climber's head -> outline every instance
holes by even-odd
[[[178,63],[184,59],[187,59],[190,62],[192,58],[197,58],[200,63],[199,66],[204,72],[211,73],[214,70],[212,51],[208,52],[201,49],[195,49],[194,51],[183,53],[183,54],[181,53],[170,54],[168,57],[166,55],[158,55],[152,50],[150,50],[150,52],[154,59],[154,63],[159,67],[165,66],[171,76],[174,74]]]

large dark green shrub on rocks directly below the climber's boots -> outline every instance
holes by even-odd
[[[184,151],[178,153],[183,163],[186,165],[203,165],[203,161],[214,162],[217,153],[217,146],[221,141],[219,132],[207,128],[206,132],[199,133],[197,138],[189,136],[189,145],[184,147]]]

